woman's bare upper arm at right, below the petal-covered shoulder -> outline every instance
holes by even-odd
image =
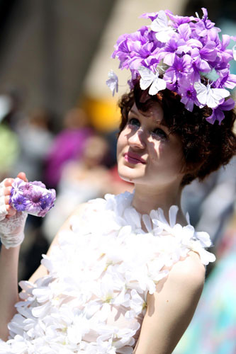
[[[147,296],[147,312],[134,354],[171,354],[189,325],[203,290],[205,268],[190,252],[173,265],[157,291]]]

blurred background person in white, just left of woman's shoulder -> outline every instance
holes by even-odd
[[[43,230],[50,242],[75,207],[111,193],[111,177],[106,168],[108,155],[108,142],[101,135],[94,134],[87,137],[78,159],[64,161],[57,202],[43,223]]]

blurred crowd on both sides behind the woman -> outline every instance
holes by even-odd
[[[79,107],[68,110],[60,126],[58,130],[45,109],[23,113],[15,93],[0,96],[1,180],[24,171],[29,181],[43,181],[57,191],[55,207],[46,217],[28,217],[19,280],[38,268],[41,254],[77,205],[106,193],[133,190],[118,176],[117,132],[98,132]],[[236,311],[231,304],[236,295],[235,176],[236,157],[204,183],[193,181],[184,189],[183,209],[198,231],[210,234],[218,261],[208,268],[198,310],[176,354],[235,353]],[[193,348],[193,342],[198,346]]]

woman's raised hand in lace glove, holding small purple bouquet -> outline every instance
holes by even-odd
[[[23,172],[18,173],[17,177],[28,181]],[[23,242],[27,217],[26,213],[16,212],[9,204],[13,181],[13,178],[6,178],[0,183],[0,239],[6,249],[16,247]]]

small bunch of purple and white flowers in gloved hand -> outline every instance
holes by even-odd
[[[47,189],[42,182],[25,182],[15,178],[11,185],[9,204],[18,212],[44,217],[54,206],[55,199],[55,189]]]

